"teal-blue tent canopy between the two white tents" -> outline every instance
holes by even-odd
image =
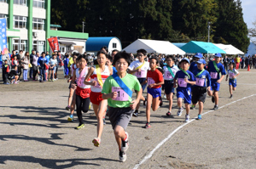
[[[201,54],[226,54],[226,52],[214,44],[212,42],[196,42],[190,41],[185,44],[182,48],[183,51],[189,54],[201,53]]]

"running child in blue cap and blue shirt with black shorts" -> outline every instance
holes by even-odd
[[[192,107],[195,108],[195,104],[197,104],[197,102],[199,103],[198,120],[201,120],[201,112],[207,99],[207,91],[211,92],[211,76],[210,73],[204,69],[206,64],[205,59],[199,59],[196,62],[197,69],[193,71],[196,81],[192,90]]]

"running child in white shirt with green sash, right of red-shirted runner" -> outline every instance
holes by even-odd
[[[173,55],[168,55],[166,57],[166,64],[163,68],[164,70],[164,80],[165,84],[163,87],[165,88],[166,99],[169,101],[169,109],[166,113],[167,116],[174,118],[172,115],[172,97],[174,93],[173,87],[173,78],[176,75],[177,71],[179,70],[176,65],[174,65],[175,58]]]

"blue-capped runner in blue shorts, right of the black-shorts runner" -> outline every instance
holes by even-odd
[[[224,65],[220,63],[221,54],[214,54],[214,59],[215,60],[209,62],[207,70],[211,75],[211,90],[213,91],[212,103],[215,103],[213,110],[218,110],[218,90],[220,82],[226,75],[226,71]]]

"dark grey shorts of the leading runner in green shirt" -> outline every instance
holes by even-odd
[[[131,110],[131,107],[126,108],[108,108],[108,117],[109,121],[111,122],[112,128],[116,126],[123,127],[124,130],[128,126],[131,116],[132,116],[133,110]]]

